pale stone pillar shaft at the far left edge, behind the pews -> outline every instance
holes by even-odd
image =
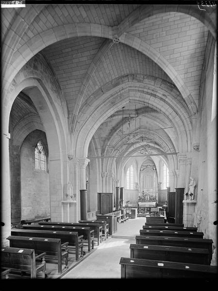
[[[9,246],[6,238],[11,235],[11,194],[10,194],[10,164],[9,164],[10,133],[3,132],[1,138],[1,162],[4,171],[1,173],[1,245]]]

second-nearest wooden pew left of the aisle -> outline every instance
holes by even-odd
[[[65,261],[65,269],[68,268],[68,242],[61,243],[60,239],[35,238],[11,235],[7,237],[10,247],[34,249],[35,254],[44,253],[46,259],[57,260],[58,274],[62,273],[62,260]],[[63,250],[63,247],[66,249]]]

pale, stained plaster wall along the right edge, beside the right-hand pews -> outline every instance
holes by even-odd
[[[199,157],[199,183],[198,198],[195,210],[195,225],[204,233],[205,239],[213,240],[213,260],[217,259],[217,226],[213,222],[217,220],[217,205],[213,202],[217,199],[217,173],[216,173],[216,122],[217,117],[211,121],[211,108],[213,97],[213,72],[214,72],[215,41],[211,35],[208,37],[205,52],[204,70],[201,83],[202,111],[201,111],[201,137]]]

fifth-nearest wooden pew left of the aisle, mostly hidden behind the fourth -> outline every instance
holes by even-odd
[[[94,230],[94,238],[97,238],[98,245],[102,242],[102,226],[99,223],[75,223],[75,222],[39,222],[39,225],[44,226],[85,226],[90,227],[91,230]]]

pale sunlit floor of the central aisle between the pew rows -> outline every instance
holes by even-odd
[[[120,278],[120,257],[130,257],[130,244],[145,223],[144,217],[129,219],[117,224],[117,232],[103,241],[80,264],[69,270],[61,279]]]

